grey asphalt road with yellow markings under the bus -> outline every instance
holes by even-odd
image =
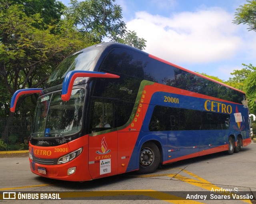
[[[60,200],[47,201],[53,204],[256,203],[254,200],[232,200],[232,196],[241,193],[256,196],[256,143],[232,155],[216,153],[168,164],[153,174],[130,172],[82,183],[32,174],[28,154],[2,155],[0,170],[2,195],[3,192],[16,192],[18,197],[21,192],[24,195],[39,193],[40,197],[40,193],[58,193]],[[216,190],[221,193],[214,193]],[[222,200],[216,200],[219,196]],[[4,199],[1,202],[41,204],[46,201]]]

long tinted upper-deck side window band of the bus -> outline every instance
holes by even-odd
[[[195,93],[242,103],[245,95],[234,89],[168,65],[139,51],[114,48],[104,60],[101,70],[137,77]]]

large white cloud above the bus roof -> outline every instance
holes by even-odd
[[[221,8],[180,12],[170,18],[137,12],[127,28],[147,40],[145,51],[150,54],[173,63],[208,63],[230,59],[243,47],[233,19]]]

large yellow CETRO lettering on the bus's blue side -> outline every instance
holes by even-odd
[[[216,101],[210,101],[206,100],[204,102],[204,109],[206,111],[212,111],[212,112],[218,112],[218,113],[232,113],[232,106],[231,105],[226,105],[224,103],[219,103]]]

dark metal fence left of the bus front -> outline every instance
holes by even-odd
[[[0,118],[0,151],[28,150],[32,117]]]

